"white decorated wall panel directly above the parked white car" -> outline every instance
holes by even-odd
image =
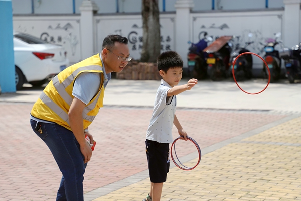
[[[14,31],[36,36],[49,43],[62,45],[70,63],[80,61],[80,22],[76,19],[14,19]]]

